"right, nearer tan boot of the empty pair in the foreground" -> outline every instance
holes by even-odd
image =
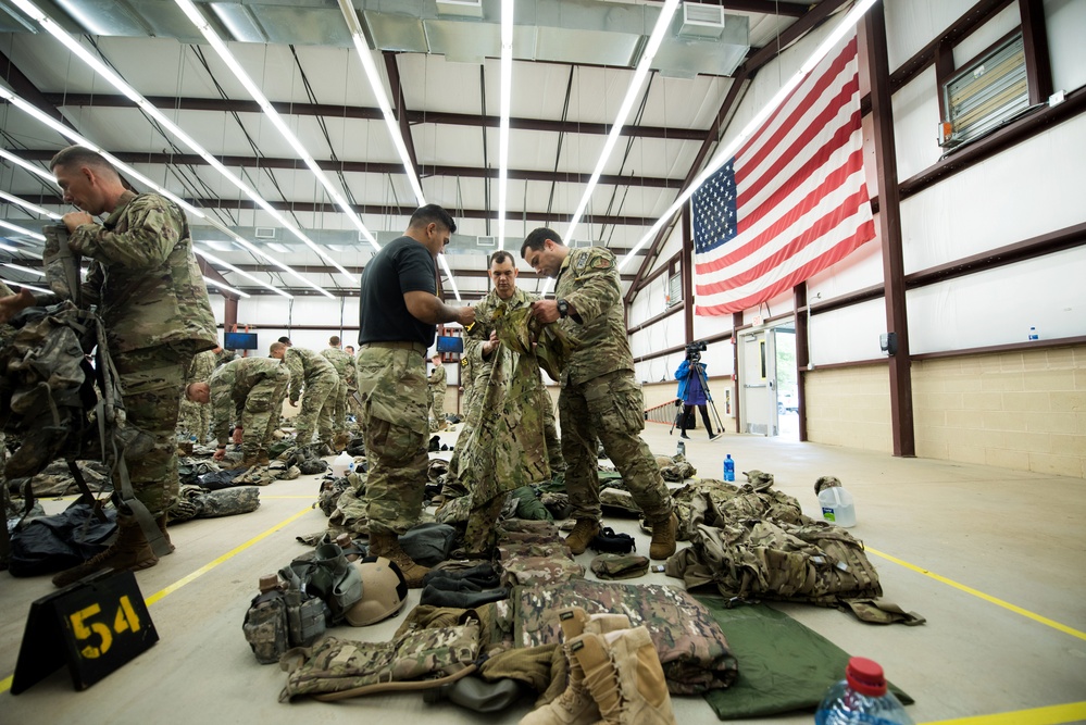
[[[585,634],[571,650],[600,709],[598,725],[677,725],[648,629]]]

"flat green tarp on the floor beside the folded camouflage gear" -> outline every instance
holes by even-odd
[[[720,597],[696,598],[709,608],[739,661],[732,687],[706,693],[721,720],[813,712],[829,686],[845,678],[849,653],[787,614],[765,604],[726,609]],[[890,690],[902,703],[913,702],[892,684]]]

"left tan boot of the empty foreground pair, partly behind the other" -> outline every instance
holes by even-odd
[[[528,713],[521,721],[521,725],[591,725],[600,718],[596,700],[585,687],[584,670],[581,668],[577,659],[570,653],[569,642],[585,632],[601,635],[628,629],[629,618],[625,614],[588,616],[579,607],[569,607],[559,611],[558,618],[562,625],[562,638],[566,642],[562,646],[562,650],[569,665],[570,685],[552,702]]]

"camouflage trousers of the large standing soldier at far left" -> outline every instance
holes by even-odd
[[[113,353],[128,424],[154,438],[147,455],[127,462],[136,498],[152,516],[164,513],[177,500],[177,392],[191,359],[188,342]]]

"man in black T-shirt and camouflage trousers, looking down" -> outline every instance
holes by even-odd
[[[419,588],[428,572],[400,548],[399,536],[422,513],[429,455],[426,350],[436,325],[475,321],[472,308],[437,296],[437,255],[457,230],[437,204],[416,209],[408,230],[362,272],[359,302],[359,392],[370,471],[366,478],[370,555],[386,557]]]

